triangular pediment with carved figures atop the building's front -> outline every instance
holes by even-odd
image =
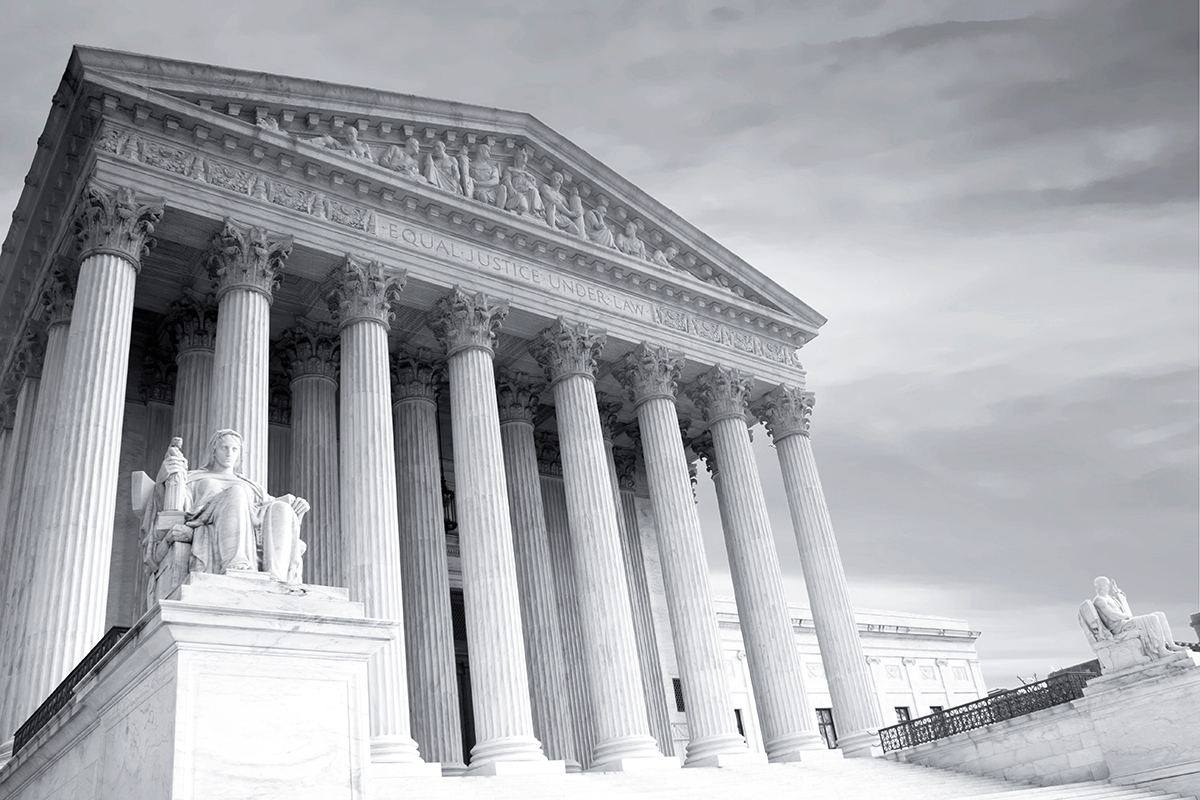
[[[788,320],[804,331],[803,341],[826,321],[529,114],[83,47],[72,70],[98,91],[132,92],[146,115],[157,107],[167,125],[172,114],[199,115],[205,136],[215,138],[223,136],[218,126],[251,126],[263,142],[287,138],[302,152],[341,160],[347,174],[388,170],[414,192],[491,205],[612,251],[649,279],[701,282],[731,306]]]

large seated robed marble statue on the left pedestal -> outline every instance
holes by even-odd
[[[272,498],[245,477],[238,432],[217,431],[209,444],[209,461],[200,469],[188,470],[179,449],[169,449],[146,519],[154,519],[173,492],[181,494],[178,503],[185,523],[172,528],[167,539],[191,542],[190,572],[262,571],[276,581],[300,583],[307,549],[300,541],[300,522],[308,503],[290,494]]]

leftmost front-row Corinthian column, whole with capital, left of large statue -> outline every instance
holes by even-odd
[[[23,674],[30,709],[104,632],[133,287],[162,200],[92,184],[76,221],[79,281],[55,404]]]

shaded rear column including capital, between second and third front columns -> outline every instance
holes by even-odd
[[[312,506],[304,525],[308,543],[304,579],[323,587],[344,587],[337,469],[338,337],[325,325],[299,320],[283,331],[278,354],[292,390],[288,488]]]

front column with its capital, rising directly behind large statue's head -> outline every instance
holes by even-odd
[[[266,486],[271,291],[290,253],[290,236],[226,219],[208,257],[217,284],[209,435],[224,428],[240,433],[242,470],[259,486]]]

